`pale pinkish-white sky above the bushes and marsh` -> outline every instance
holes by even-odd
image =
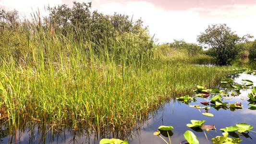
[[[104,14],[126,14],[133,16],[133,21],[141,18],[159,43],[173,42],[173,39],[197,43],[196,37],[211,24],[227,24],[239,36],[256,36],[256,0],[75,1],[92,1],[92,10]],[[23,16],[39,10],[41,15],[46,15],[48,5],[72,7],[72,3],[73,0],[0,0],[0,9],[16,9]]]

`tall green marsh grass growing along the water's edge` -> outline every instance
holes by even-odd
[[[130,128],[166,100],[196,85],[210,87],[232,71],[191,65],[202,59],[182,53],[153,57],[153,49],[139,51],[132,39],[106,37],[96,44],[79,29],[63,36],[51,25],[27,22],[1,31],[9,33],[23,43],[19,53],[7,51],[0,58],[0,119],[9,125],[37,120],[95,130]]]

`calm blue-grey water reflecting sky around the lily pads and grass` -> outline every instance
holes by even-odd
[[[242,84],[242,79],[248,79],[254,82],[256,86],[256,76],[249,74],[239,74],[234,78],[234,82]],[[159,108],[154,114],[148,117],[148,120],[144,122],[140,127],[136,127],[136,130],[127,131],[126,133],[105,132],[104,134],[97,135],[93,131],[73,131],[72,129],[49,129],[31,125],[24,129],[18,129],[16,131],[10,131],[5,127],[0,130],[0,143],[4,144],[98,144],[99,140],[104,135],[104,138],[120,138],[129,141],[129,144],[164,144],[164,142],[158,137],[154,136],[153,132],[158,130],[160,125],[171,125],[174,127],[171,136],[172,144],[180,144],[185,140],[183,133],[190,130],[198,137],[200,144],[212,144],[211,138],[221,135],[219,129],[235,125],[236,123],[248,123],[254,128],[252,131],[256,131],[256,110],[248,109],[248,93],[251,89],[241,90],[241,95],[231,96],[232,99],[223,100],[223,102],[235,103],[241,102],[243,109],[231,111],[230,109],[219,109],[217,111],[214,108],[210,108],[210,113],[214,114],[214,117],[207,117],[202,115],[197,108],[191,108],[179,101],[171,101],[165,104],[162,108]],[[208,97],[208,99],[210,99]],[[244,98],[244,100],[242,100]],[[201,105],[200,101],[206,101],[203,98],[196,98],[196,102],[190,103],[190,105]],[[203,106],[203,105],[201,105]],[[216,131],[206,132],[209,141],[206,139],[204,132],[195,132],[186,124],[190,123],[190,120],[206,120],[204,124],[214,124],[217,128]],[[100,136],[101,135],[101,136]],[[238,135],[233,135],[238,137]],[[229,136],[232,137],[232,136]],[[249,132],[246,135],[247,138],[239,136],[243,139],[240,144],[256,144],[256,133]],[[167,139],[167,138],[166,138]],[[168,140],[168,139],[167,139]]]

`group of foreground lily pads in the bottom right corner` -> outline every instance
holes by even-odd
[[[204,125],[205,120],[191,120],[191,123],[187,124],[187,127],[190,127],[196,132],[204,132],[203,130],[210,131],[210,130],[216,130],[214,124],[213,125]],[[223,129],[220,129],[222,131],[223,136],[216,136],[211,139],[211,141],[214,144],[239,144],[242,142],[242,139],[240,138],[230,138],[228,137],[229,134],[232,134],[232,132],[238,131],[240,135],[246,135],[248,133],[244,132],[254,132],[251,131],[253,126],[247,124],[247,123],[237,123],[236,126],[226,127]],[[154,135],[158,135],[166,144],[171,144],[171,136],[173,135],[173,132],[171,130],[174,129],[172,126],[159,126],[158,131],[154,132]],[[201,131],[200,131],[201,130]],[[229,133],[230,132],[230,133]],[[169,137],[168,143],[163,137],[161,137],[161,134],[165,137]],[[184,134],[185,141],[182,141],[180,144],[199,144],[199,140],[196,137],[196,135],[187,130]],[[207,138],[207,135],[205,133],[205,136]],[[208,139],[208,138],[207,138]]]

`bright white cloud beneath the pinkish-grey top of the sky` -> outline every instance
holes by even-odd
[[[88,2],[88,0],[76,0]],[[226,5],[219,8],[192,8],[185,11],[168,11],[146,1],[128,2],[94,2],[93,10],[104,14],[114,12],[133,16],[134,21],[142,18],[145,25],[149,26],[151,36],[159,42],[171,42],[173,39],[184,39],[187,42],[196,43],[196,37],[204,32],[210,24],[227,24],[238,35],[251,34],[256,36],[256,5]],[[44,5],[55,6],[62,4],[61,0],[1,0],[0,6],[16,9],[20,12],[30,13],[39,8],[44,12]]]

